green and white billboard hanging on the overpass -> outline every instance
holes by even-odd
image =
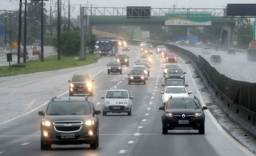
[[[166,13],[166,26],[211,26],[212,15],[210,13]]]

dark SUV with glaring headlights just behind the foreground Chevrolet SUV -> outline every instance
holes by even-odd
[[[69,85],[69,95],[89,94],[93,95],[94,80],[89,75],[74,75],[72,80],[67,81]]]

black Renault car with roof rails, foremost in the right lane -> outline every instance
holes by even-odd
[[[166,102],[162,114],[162,133],[167,134],[168,130],[198,130],[199,134],[205,134],[205,113],[206,106],[202,107],[196,96],[175,97]]]

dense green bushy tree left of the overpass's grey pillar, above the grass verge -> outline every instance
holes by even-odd
[[[58,38],[57,35],[52,40],[52,46],[57,51]],[[80,50],[80,31],[71,29],[70,31],[62,31],[60,33],[60,52],[63,56],[78,55]]]

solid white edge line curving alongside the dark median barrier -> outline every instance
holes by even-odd
[[[185,61],[184,61],[184,60],[182,60],[181,58],[179,58],[179,59],[185,64]],[[186,65],[187,68],[189,68],[187,64],[185,64],[185,65]],[[203,105],[203,106],[206,106],[205,101],[204,101],[204,99],[203,99],[203,97],[202,97],[200,91],[199,91],[198,88],[197,88],[197,85],[196,85],[196,83],[195,83],[195,81],[194,81],[194,78],[192,77],[192,74],[191,74],[190,70],[188,70],[188,71],[189,71],[189,75],[190,75],[190,77],[191,77],[191,79],[192,79],[192,82],[193,82],[193,84],[194,84],[194,87],[195,87],[195,89],[196,89],[196,91],[197,91],[197,94],[199,95],[199,99],[200,99],[200,101],[202,102],[202,105]],[[210,119],[212,120],[213,124],[216,125],[216,127],[218,128],[218,130],[219,130],[226,138],[228,138],[231,142],[233,142],[238,148],[240,148],[240,149],[241,149],[243,152],[245,152],[248,156],[254,156],[254,153],[252,153],[250,150],[248,150],[248,149],[245,148],[243,145],[241,145],[237,140],[235,140],[234,138],[232,138],[232,136],[230,136],[229,133],[227,133],[227,132],[223,129],[223,127],[221,127],[221,125],[218,123],[218,121],[216,120],[216,118],[213,117],[213,114],[209,111],[209,109],[207,109],[205,112],[207,112],[207,114],[209,115],[209,117],[210,117]]]

